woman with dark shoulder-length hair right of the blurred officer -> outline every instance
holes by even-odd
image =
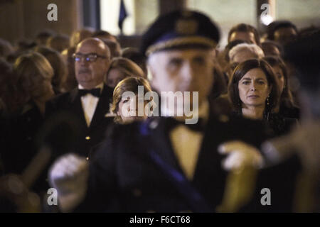
[[[274,113],[279,94],[278,80],[265,60],[252,59],[240,63],[228,86],[228,96],[235,114],[266,121],[275,135],[289,131],[293,123]]]

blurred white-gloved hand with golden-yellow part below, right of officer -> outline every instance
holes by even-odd
[[[218,212],[237,212],[247,204],[255,192],[257,170],[263,165],[259,150],[242,141],[231,141],[219,146],[218,152],[228,155],[222,165],[230,170]]]

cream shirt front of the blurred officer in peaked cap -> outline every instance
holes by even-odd
[[[209,103],[205,101],[198,111],[198,117],[203,118],[205,123],[208,121],[209,111]],[[192,180],[198,162],[203,133],[193,131],[181,124],[170,132],[170,140],[184,174],[189,180]]]

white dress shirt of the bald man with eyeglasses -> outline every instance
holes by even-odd
[[[80,84],[78,88],[84,89]],[[100,88],[101,89],[100,92],[102,92],[103,83],[97,85],[97,87],[95,88]],[[86,94],[85,96],[81,96],[82,110],[83,110],[83,114],[85,114],[85,122],[87,123],[88,127],[90,126],[93,115],[95,114],[95,109],[97,108],[98,101],[99,101],[99,98],[96,96],[93,96],[92,94]]]

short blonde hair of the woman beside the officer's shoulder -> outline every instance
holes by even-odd
[[[152,91],[149,82],[143,77],[127,77],[117,84],[113,91],[111,107],[112,113],[117,114],[122,94],[124,94],[124,92],[134,92],[134,94],[138,94],[138,86],[144,87],[144,94]],[[122,123],[121,116],[117,114],[117,116],[114,117],[114,122]]]

